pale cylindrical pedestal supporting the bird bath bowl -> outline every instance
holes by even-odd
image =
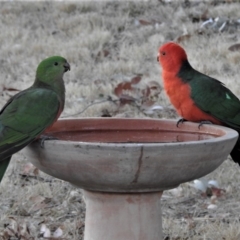
[[[162,192],[103,193],[83,190],[84,240],[161,240]]]

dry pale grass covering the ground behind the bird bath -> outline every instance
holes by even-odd
[[[209,1],[188,8],[180,1],[174,2],[1,2],[1,86],[20,90],[28,87],[42,59],[62,55],[72,69],[65,75],[67,101],[63,116],[74,114],[92,101],[107,96],[116,99],[114,87],[136,74],[143,75],[143,83],[162,84],[157,49],[188,32],[191,37],[181,44],[191,64],[240,96],[240,52],[228,51],[239,41],[239,28],[222,33],[203,30],[198,34],[202,20],[192,22],[193,16],[201,16],[207,9],[209,18],[236,20],[239,5],[212,5]],[[152,24],[142,25],[139,20]],[[106,57],[99,54],[104,50],[109,52]],[[3,88],[0,92],[1,106],[15,94]],[[171,107],[163,92],[158,103]],[[111,102],[94,105],[77,116],[99,117],[104,110],[113,116],[149,117],[134,106],[117,111]],[[152,116],[173,118],[176,114],[170,109]],[[52,232],[60,226],[65,239],[82,239],[85,208],[80,190],[43,173],[37,179],[22,178],[26,164],[21,153],[15,154],[1,184],[0,235],[5,224],[11,223],[11,216],[19,224],[27,224],[34,239],[40,239],[41,222]],[[210,199],[201,197],[189,183],[181,185],[180,195],[165,192],[162,204],[166,239],[240,239],[239,168],[227,160],[208,178],[216,179],[226,190],[214,210],[207,209]]]

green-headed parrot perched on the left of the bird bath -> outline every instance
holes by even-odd
[[[12,155],[38,138],[63,111],[63,75],[68,70],[63,57],[43,60],[33,85],[11,97],[0,111],[0,182]]]

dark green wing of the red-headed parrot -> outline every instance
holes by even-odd
[[[240,130],[240,101],[223,83],[193,68],[179,77],[190,85],[191,98],[202,111]]]

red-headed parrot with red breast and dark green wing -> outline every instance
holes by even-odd
[[[183,118],[179,122],[211,122],[240,133],[239,99],[220,81],[195,70],[181,46],[174,42],[164,44],[157,60],[162,66],[164,89]],[[240,164],[240,139],[231,157]]]

